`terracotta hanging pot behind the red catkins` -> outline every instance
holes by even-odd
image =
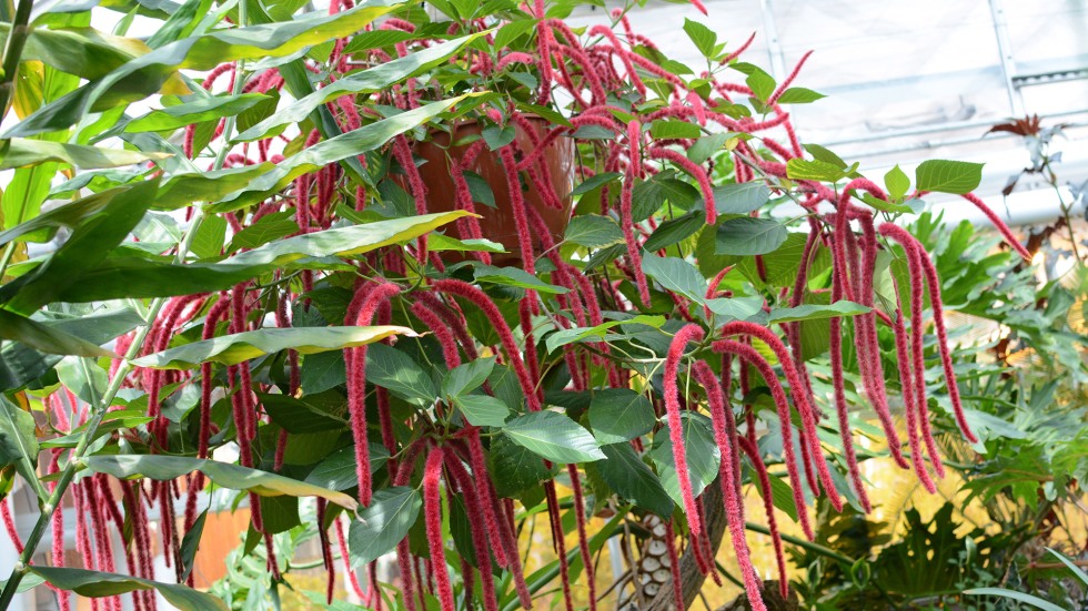
[[[527,128],[535,132],[536,139],[542,140],[546,133],[547,121],[540,116],[527,116]],[[532,139],[522,125],[513,123],[515,128],[515,142],[522,151],[533,151]],[[452,131],[452,142],[461,142],[472,135],[480,135],[482,126],[476,121],[459,123]],[[417,142],[414,145],[413,154],[426,160],[420,166],[420,174],[424,184],[427,186],[427,212],[449,212],[456,210],[456,198],[454,196],[453,177],[450,172],[451,162],[460,162],[467,145],[456,145],[450,147],[451,133],[434,131],[431,140]],[[571,220],[571,191],[574,189],[574,141],[570,138],[557,138],[546,145],[547,150],[541,155],[538,165],[545,165],[551,176],[552,187],[560,196],[562,207],[553,207],[545,203],[544,197],[532,186],[527,177],[520,181],[522,184],[522,196],[525,205],[536,210],[552,234],[554,242],[563,240],[566,225]],[[495,207],[490,207],[482,203],[476,203],[476,213],[482,216],[478,220],[480,231],[483,237],[502,243],[508,253],[493,254],[492,262],[495,265],[516,265],[521,262],[521,246],[517,240],[517,228],[514,222],[513,204],[510,200],[510,191],[506,183],[506,167],[503,166],[498,153],[484,149],[469,171],[475,172],[491,187],[495,196]],[[403,176],[397,177],[403,184]],[[446,225],[446,233],[459,240],[467,236],[461,235],[457,224]],[[540,254],[542,243],[534,234],[534,251]]]

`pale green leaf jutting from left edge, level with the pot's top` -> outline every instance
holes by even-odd
[[[12,138],[0,141],[0,170],[27,167],[50,161],[68,163],[80,170],[121,167],[169,157],[167,153],[143,153],[124,149],[102,149],[48,140]]]

